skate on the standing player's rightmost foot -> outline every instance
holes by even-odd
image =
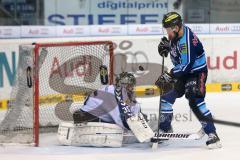
[[[222,148],[222,144],[220,142],[220,139],[216,133],[210,133],[208,135],[208,140],[206,142],[206,145],[209,149],[217,149]]]

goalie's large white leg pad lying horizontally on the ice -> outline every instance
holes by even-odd
[[[62,122],[58,128],[58,140],[62,145],[121,147],[123,129],[116,124],[88,122]]]

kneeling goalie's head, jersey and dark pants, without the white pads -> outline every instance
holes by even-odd
[[[81,109],[73,114],[74,123],[107,122],[128,128],[127,116],[140,112],[133,91],[135,84],[132,74],[121,73],[116,85],[104,86],[89,95]]]

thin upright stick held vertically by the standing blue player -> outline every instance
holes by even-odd
[[[163,74],[163,70],[164,70],[164,56],[162,56],[162,73],[161,74]],[[159,128],[159,126],[160,126],[160,122],[161,122],[161,108],[162,108],[162,103],[161,103],[161,101],[162,101],[162,93],[163,93],[163,91],[162,91],[162,89],[163,89],[163,84],[161,83],[161,88],[160,88],[160,98],[159,98],[159,110],[158,110],[158,131],[157,131],[157,139],[158,139],[158,136],[160,135],[159,134],[159,130],[160,130],[160,128]],[[153,142],[153,144],[152,144],[152,149],[157,149],[158,148],[158,142]]]

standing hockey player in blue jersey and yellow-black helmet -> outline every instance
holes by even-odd
[[[206,142],[209,148],[220,148],[220,139],[212,121],[212,114],[207,109],[205,98],[205,83],[208,75],[205,51],[198,37],[190,28],[182,23],[181,16],[176,12],[169,12],[162,20],[168,38],[163,37],[158,46],[161,56],[167,57],[170,53],[174,67],[164,73],[156,81],[157,86],[173,83],[173,89],[164,93],[161,100],[160,130],[170,132],[173,118],[173,104],[176,98],[185,94],[189,106],[202,124],[208,135]]]

